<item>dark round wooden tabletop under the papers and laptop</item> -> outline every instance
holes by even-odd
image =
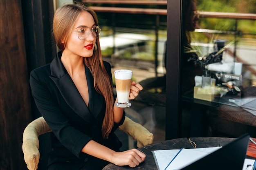
[[[189,138],[179,138],[167,141],[158,142],[155,144],[150,144],[142,148],[138,148],[146,154],[146,159],[144,162],[140,163],[139,166],[135,168],[130,168],[129,166],[116,166],[112,163],[108,164],[103,170],[157,170],[155,164],[155,159],[152,155],[152,150],[163,150],[163,149],[180,149],[180,148],[206,148],[206,147],[216,147],[224,146],[236,138],[225,138],[225,137],[195,137]]]

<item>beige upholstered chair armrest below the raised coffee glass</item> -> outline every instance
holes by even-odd
[[[141,124],[132,121],[129,117],[125,117],[124,124],[119,126],[119,129],[123,130],[124,132],[126,132],[126,134],[132,137],[132,139],[137,141],[138,148],[153,143],[153,134],[150,133]]]

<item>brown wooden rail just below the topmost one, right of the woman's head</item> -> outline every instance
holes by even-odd
[[[150,15],[167,15],[167,9],[123,8],[123,7],[90,7],[95,12],[134,13]]]

